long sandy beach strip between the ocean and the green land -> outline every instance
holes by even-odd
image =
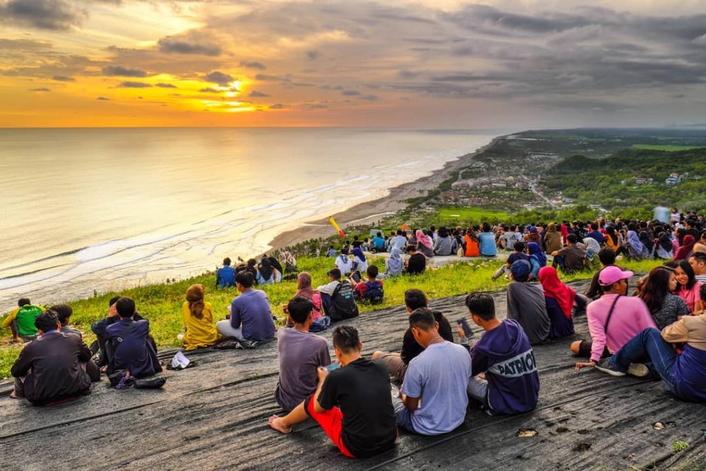
[[[333,214],[333,217],[340,227],[345,229],[353,223],[373,223],[377,222],[382,217],[397,213],[397,211],[407,208],[408,204],[406,201],[408,199],[417,198],[424,195],[426,191],[435,189],[436,186],[438,186],[441,181],[447,179],[450,174],[459,172],[461,169],[467,167],[475,157],[484,153],[506,136],[507,135],[496,136],[490,143],[481,146],[472,153],[460,155],[454,160],[446,162],[441,169],[435,170],[426,177],[397,185],[389,190],[387,196],[377,198],[373,201],[358,203],[352,208]],[[287,246],[299,244],[308,239],[328,237],[333,233],[333,227],[328,223],[328,217],[308,221],[305,222],[303,226],[297,227],[297,229],[290,229],[278,234],[277,237],[268,243],[270,246],[269,251],[281,250]]]

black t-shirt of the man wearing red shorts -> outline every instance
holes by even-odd
[[[318,403],[343,413],[343,443],[356,458],[366,458],[395,445],[397,422],[385,366],[360,358],[328,374]]]

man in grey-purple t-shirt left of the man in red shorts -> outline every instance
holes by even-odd
[[[275,400],[284,410],[293,410],[316,391],[319,366],[331,364],[326,340],[309,333],[313,322],[313,304],[305,297],[295,297],[287,304],[292,328],[277,331],[280,357],[280,381]]]

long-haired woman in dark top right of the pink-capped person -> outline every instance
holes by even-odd
[[[659,330],[678,321],[681,316],[690,314],[686,302],[673,294],[676,288],[676,274],[674,270],[666,267],[652,268],[647,280],[640,287],[638,296],[647,304]]]

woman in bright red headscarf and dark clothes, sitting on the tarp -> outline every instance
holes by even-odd
[[[556,274],[556,269],[545,266],[539,270],[539,282],[544,289],[546,314],[551,323],[549,338],[561,338],[574,333],[571,314],[574,303],[580,303],[585,308],[585,300],[578,298],[576,292],[564,285]],[[581,308],[580,308],[581,309]]]

